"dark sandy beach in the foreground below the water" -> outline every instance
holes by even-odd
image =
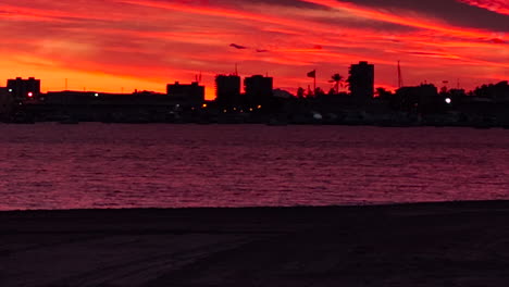
[[[509,286],[509,202],[0,212],[0,286]]]

